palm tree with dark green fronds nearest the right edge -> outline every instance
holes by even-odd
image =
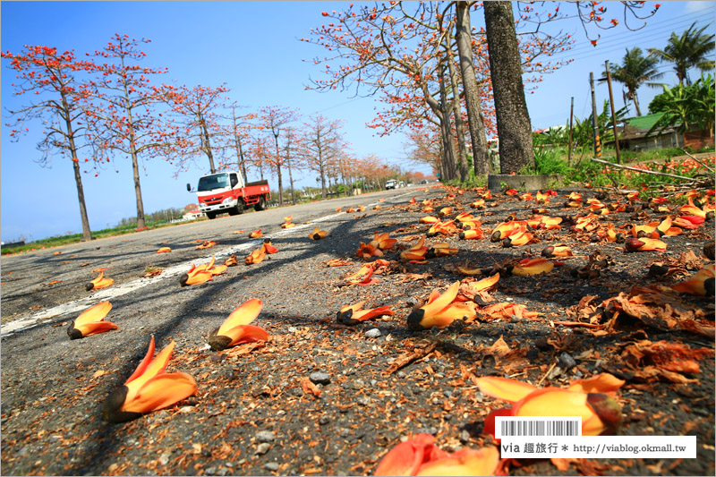
[[[700,30],[695,30],[696,23],[692,23],[688,30],[681,33],[678,37],[676,33],[671,33],[669,43],[660,50],[659,48],[649,48],[649,55],[658,58],[662,63],[673,63],[674,71],[677,72],[678,84],[691,84],[687,71],[689,68],[696,67],[706,72],[713,69],[713,58],[708,56],[714,48],[714,35],[703,33],[708,25]]]

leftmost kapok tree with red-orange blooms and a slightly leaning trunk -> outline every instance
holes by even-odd
[[[78,61],[73,51],[59,53],[55,47],[30,46],[21,53],[2,52],[16,72],[15,96],[33,95],[27,106],[10,111],[15,124],[10,137],[19,140],[30,128],[27,123],[42,122],[42,139],[38,142],[40,166],[52,166],[55,152],[71,159],[77,200],[80,204],[82,241],[92,239],[90,220],[82,187],[79,150],[90,145],[86,136],[86,119],[81,108],[82,91],[75,75],[90,69],[90,62]],[[30,124],[28,124],[30,125]],[[89,161],[85,158],[84,161]]]

